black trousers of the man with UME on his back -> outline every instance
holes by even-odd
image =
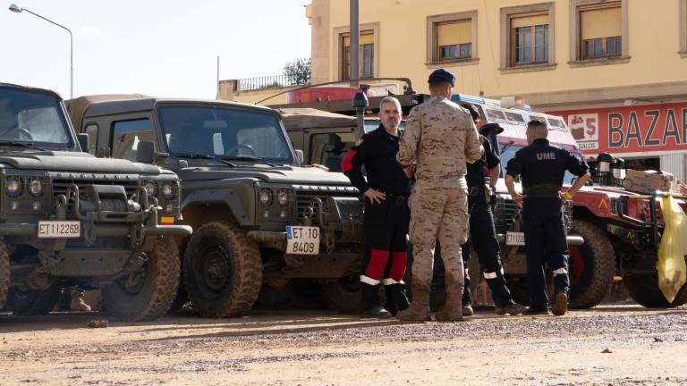
[[[532,298],[531,308],[548,308],[544,264],[554,274],[556,294],[567,294],[568,243],[564,225],[563,203],[559,197],[526,197],[522,205],[522,222],[527,255],[527,277]]]

